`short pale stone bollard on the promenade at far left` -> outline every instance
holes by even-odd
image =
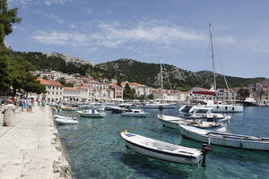
[[[8,104],[4,106],[4,126],[13,126],[15,124],[16,106]]]

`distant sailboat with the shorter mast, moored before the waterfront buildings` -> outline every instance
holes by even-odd
[[[162,64],[161,66],[161,90],[163,90],[163,75],[162,75]],[[163,101],[163,96],[162,96],[162,101]],[[143,108],[147,109],[158,109],[158,108],[163,108],[163,109],[174,109],[177,107],[176,103],[163,103],[163,102],[154,102],[154,103],[146,103]]]

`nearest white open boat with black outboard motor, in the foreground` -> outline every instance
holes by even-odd
[[[150,158],[189,165],[197,164],[203,159],[201,149],[157,141],[130,132],[121,132],[120,134],[126,141],[127,148]]]

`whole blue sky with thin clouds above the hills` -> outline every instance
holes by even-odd
[[[6,42],[16,51],[60,52],[100,64],[122,57],[269,78],[269,1],[8,0],[22,23]],[[222,70],[221,70],[222,69]]]

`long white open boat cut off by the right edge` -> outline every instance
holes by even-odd
[[[178,124],[184,137],[194,141],[209,142],[238,149],[269,150],[269,138],[232,134],[227,132],[211,132],[185,124]]]

